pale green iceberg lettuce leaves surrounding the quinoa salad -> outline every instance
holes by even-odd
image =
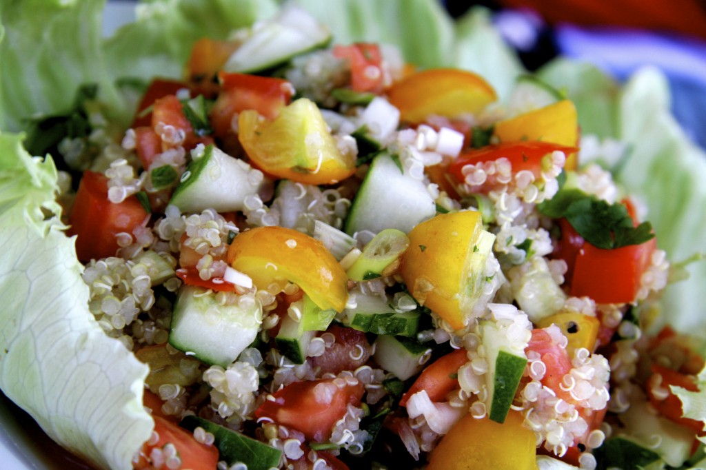
[[[423,67],[460,66],[485,76],[507,97],[524,70],[472,8],[452,20],[433,0],[299,0],[335,31],[337,42],[396,44]],[[275,0],[151,0],[137,20],[102,37],[105,0],[0,2],[0,388],[54,440],[99,468],[128,469],[150,435],[141,398],[147,368],[106,337],[86,305],[88,287],[54,202],[52,159],[28,155],[22,136],[35,114],[71,106],[78,87],[97,83],[100,100],[130,119],[124,79],[179,77],[191,43],[222,39],[270,16]],[[706,157],[669,114],[669,90],[645,70],[622,87],[587,64],[558,59],[540,75],[566,90],[584,133],[626,140],[618,178],[649,207],[660,246],[672,260],[706,251]],[[13,132],[13,133],[7,133]],[[666,196],[668,195],[668,196]],[[47,217],[49,215],[49,217]],[[704,263],[669,287],[666,318],[681,330],[704,327]],[[702,378],[706,380],[706,378]],[[683,393],[688,414],[706,417],[702,394]]]

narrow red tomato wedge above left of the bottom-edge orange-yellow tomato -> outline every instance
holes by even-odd
[[[409,397],[421,390],[426,390],[432,402],[441,402],[448,392],[459,387],[456,374],[458,369],[467,362],[467,351],[463,348],[436,359],[424,368],[417,380],[414,380],[412,387],[402,395],[400,406],[406,406]]]

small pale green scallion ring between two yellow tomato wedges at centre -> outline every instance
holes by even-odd
[[[409,246],[409,237],[397,229],[384,229],[363,248],[346,274],[353,281],[367,281],[391,275]]]

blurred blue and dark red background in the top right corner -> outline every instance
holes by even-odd
[[[493,23],[530,70],[556,55],[590,61],[618,80],[657,66],[672,112],[706,148],[706,0],[445,0],[452,16],[472,5]]]

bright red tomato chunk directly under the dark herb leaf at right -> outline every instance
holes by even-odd
[[[590,243],[576,255],[570,295],[589,296],[597,303],[630,303],[640,289],[640,277],[650,265],[657,240],[612,250]]]

